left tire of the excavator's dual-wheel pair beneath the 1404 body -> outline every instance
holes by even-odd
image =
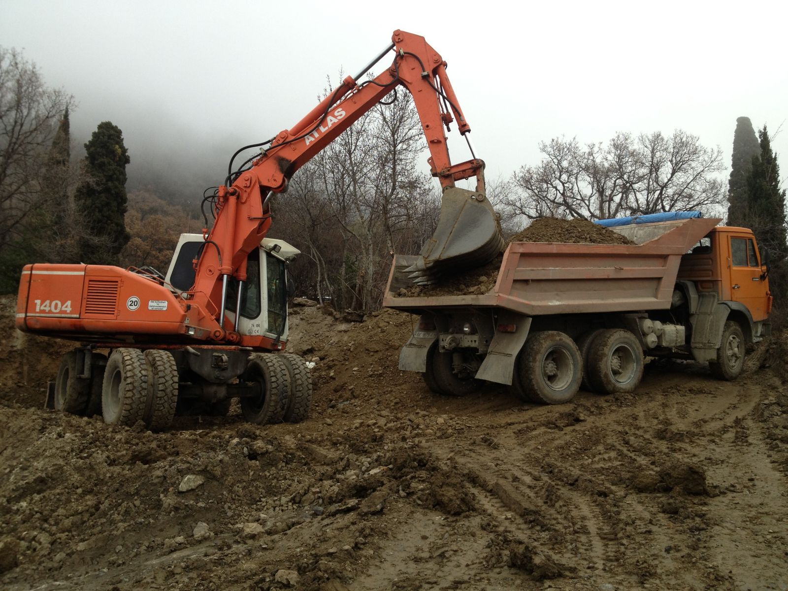
[[[147,403],[147,363],[139,349],[115,349],[106,362],[101,411],[107,425],[132,426],[143,420]]]

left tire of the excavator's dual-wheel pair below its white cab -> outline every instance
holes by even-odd
[[[255,396],[241,398],[243,418],[255,425],[281,422],[288,403],[288,377],[284,362],[275,356],[254,355],[243,379],[255,385]]]

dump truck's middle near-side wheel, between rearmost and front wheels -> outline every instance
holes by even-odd
[[[643,378],[643,349],[634,334],[605,329],[589,351],[589,385],[597,394],[634,392]]]

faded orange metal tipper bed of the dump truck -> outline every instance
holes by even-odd
[[[404,269],[416,259],[396,255],[383,305],[412,313],[501,307],[530,316],[667,309],[682,255],[719,221],[693,218],[611,228],[632,245],[513,242],[504,252],[495,287],[484,295],[396,296],[413,286]]]

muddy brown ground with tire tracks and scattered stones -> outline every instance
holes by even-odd
[[[310,418],[165,433],[42,409],[68,344],[0,300],[0,588],[786,589],[788,368],[649,363],[633,395],[450,399],[411,318],[292,310]]]

